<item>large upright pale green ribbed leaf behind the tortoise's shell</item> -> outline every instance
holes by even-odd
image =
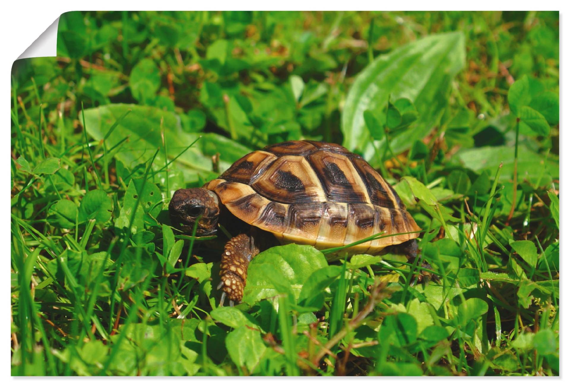
[[[364,135],[363,114],[381,111],[392,96],[408,98],[418,112],[417,125],[391,141],[395,153],[408,149],[437,125],[448,103],[451,81],[464,64],[463,32],[430,35],[378,56],[359,73],[348,93],[341,117],[343,145],[371,159],[374,148]]]

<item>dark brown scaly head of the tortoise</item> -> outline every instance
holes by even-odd
[[[218,196],[205,188],[177,190],[168,205],[170,220],[174,227],[192,234],[197,223],[196,235],[214,235],[217,232],[219,203]]]

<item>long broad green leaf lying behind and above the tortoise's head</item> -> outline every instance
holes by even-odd
[[[157,149],[162,147],[161,119],[164,118],[164,137],[168,149],[169,161],[180,155],[169,168],[184,173],[186,181],[196,181],[198,173],[208,174],[211,171],[211,156],[220,153],[220,170],[226,170],[231,163],[249,153],[251,150],[229,138],[214,133],[202,134],[192,147],[185,150],[198,139],[198,133],[186,133],[181,126],[177,114],[164,112],[150,106],[111,104],[85,110],[87,133],[96,140],[101,140],[111,126],[127,110],[130,114],[123,118],[115,130],[105,140],[112,147],[128,138],[119,146],[115,158],[125,167],[134,168],[141,162],[149,160]],[[184,151],[184,152],[183,152]],[[182,153],[183,152],[183,153]],[[181,154],[182,153],[182,154]],[[158,152],[154,167],[165,165],[164,152]]]

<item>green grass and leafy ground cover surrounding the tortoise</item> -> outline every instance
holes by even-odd
[[[12,73],[12,374],[558,375],[558,23],[64,14]],[[300,138],[381,171],[421,258],[278,246],[219,307],[225,234],[170,197]]]

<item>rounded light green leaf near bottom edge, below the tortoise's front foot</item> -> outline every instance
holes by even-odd
[[[227,334],[226,348],[235,365],[245,366],[251,373],[259,364],[267,347],[259,331],[241,326]]]

